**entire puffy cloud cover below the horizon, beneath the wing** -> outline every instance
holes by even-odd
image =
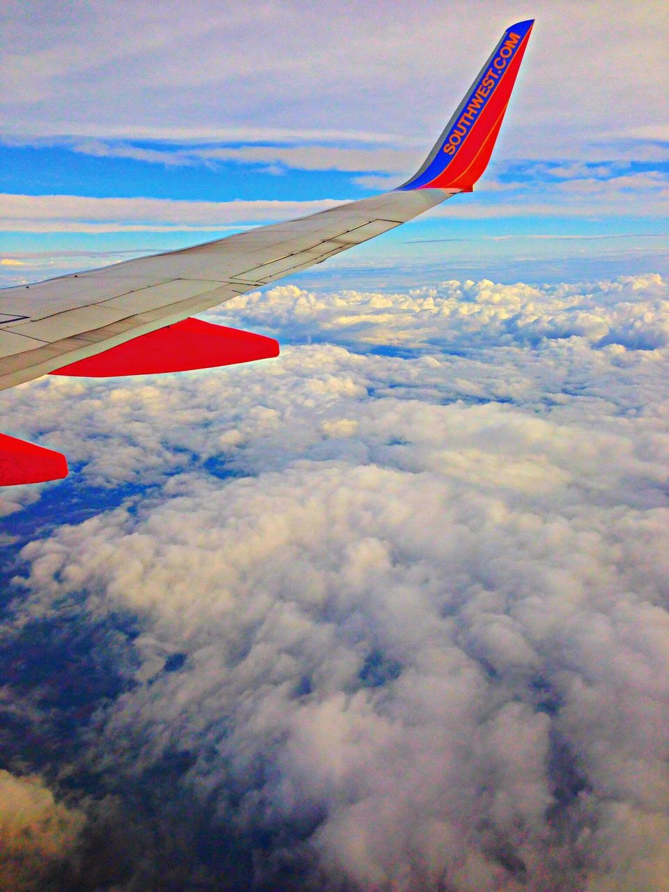
[[[214,314],[280,359],[5,398],[81,464],[5,523],[58,888],[669,889],[668,294],[282,286]]]

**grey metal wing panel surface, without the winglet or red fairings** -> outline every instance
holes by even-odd
[[[0,390],[320,263],[459,189],[389,192],[208,244],[0,291]]]

